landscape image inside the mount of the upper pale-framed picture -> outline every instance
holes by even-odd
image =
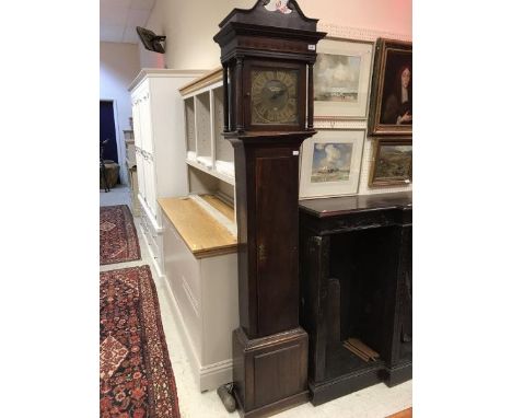
[[[357,102],[361,57],[318,54],[315,63],[315,101]]]

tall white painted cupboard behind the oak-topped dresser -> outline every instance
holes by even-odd
[[[142,69],[131,93],[142,236],[154,267],[165,276],[160,197],[187,194],[184,104],[178,89],[201,70]]]

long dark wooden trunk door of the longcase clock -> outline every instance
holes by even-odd
[[[299,325],[298,160],[287,148],[260,150],[255,161],[260,336]]]

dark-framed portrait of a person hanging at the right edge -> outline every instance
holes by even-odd
[[[412,135],[412,43],[379,38],[369,135]]]

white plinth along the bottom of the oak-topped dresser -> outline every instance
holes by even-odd
[[[184,341],[185,349],[189,353],[188,359],[190,360],[190,362],[193,362],[193,369],[195,371],[198,371],[194,373],[194,379],[197,385],[199,386],[199,391],[203,392],[217,390],[219,386],[232,382],[233,360],[230,359],[218,363],[208,364],[206,367],[200,365],[197,352],[194,349],[194,344],[187,332],[187,327],[182,316],[182,312],[179,311],[176,298],[174,297],[173,290],[171,289],[171,285],[166,279],[164,279],[164,281],[167,293],[165,297],[170,301],[172,314],[176,320],[176,324],[178,324],[179,334],[182,335],[182,341]]]

